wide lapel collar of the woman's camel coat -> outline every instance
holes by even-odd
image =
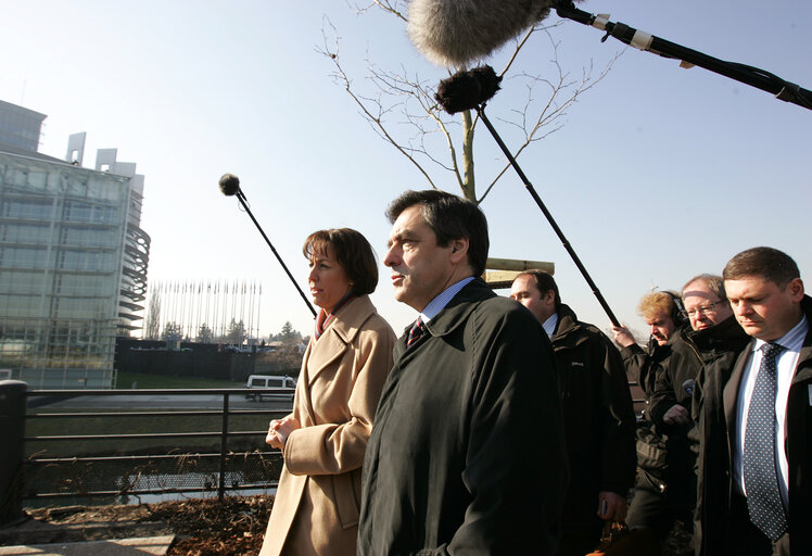
[[[308,383],[313,383],[325,367],[346,351],[347,345],[353,343],[364,324],[375,314],[376,308],[369,295],[361,295],[342,307],[321,338],[318,340],[315,337],[310,338],[302,366],[307,372]]]

